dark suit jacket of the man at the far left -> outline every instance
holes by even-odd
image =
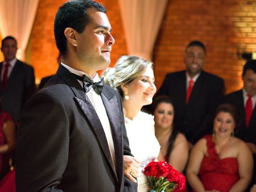
[[[0,63],[0,74],[3,62]],[[36,89],[34,69],[32,66],[17,60],[3,90],[0,84],[0,97],[3,110],[9,112],[15,122],[19,121],[20,113],[27,100]]]

